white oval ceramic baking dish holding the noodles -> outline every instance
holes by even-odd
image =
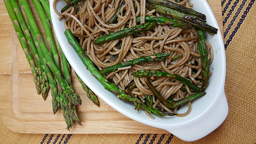
[[[224,92],[226,57],[220,30],[214,36],[208,33],[206,34],[206,39],[212,44],[214,51],[214,60],[210,67],[210,71],[213,74],[205,91],[207,94],[192,101],[192,110],[188,116],[159,117],[154,115],[155,119],[153,120],[144,111],[140,110],[137,112],[130,103],[120,100],[114,93],[105,90],[103,85],[91,75],[91,72],[86,69],[74,48],[68,44],[68,40],[64,35],[66,28],[63,22],[65,19],[58,20],[59,16],[54,12],[52,3],[53,0],[50,0],[53,28],[68,62],[84,83],[118,112],[142,124],[171,132],[173,135],[185,141],[195,141],[203,138],[218,128],[228,116],[228,103]],[[194,4],[194,10],[206,15],[208,24],[219,29],[211,8],[205,0],[191,0],[190,3]],[[57,10],[60,12],[61,8],[65,5],[66,3],[64,1],[58,1]],[[178,110],[178,113],[186,112],[187,108],[187,105],[182,106]]]

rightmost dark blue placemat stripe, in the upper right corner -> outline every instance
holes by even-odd
[[[224,45],[225,50],[227,49],[227,46],[229,45],[230,41],[232,40],[233,36],[235,36],[237,30],[240,28],[240,25],[243,23],[244,18],[246,17],[247,13],[250,11],[252,4],[254,4],[255,0],[251,0],[251,2],[249,3],[249,5],[246,7],[246,10],[244,11],[244,14],[242,15],[241,19],[239,20],[239,22],[237,23],[237,26],[235,28],[235,30],[232,32],[232,34],[229,36],[226,44]]]

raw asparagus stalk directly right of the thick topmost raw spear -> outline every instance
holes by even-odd
[[[33,1],[34,5],[36,7],[36,11],[39,15],[39,18],[42,21],[44,31],[45,31],[45,35],[46,35],[46,40],[47,40],[47,43],[49,44],[49,46],[51,48],[53,60],[57,64],[58,68],[60,69],[60,58],[59,58],[57,47],[56,47],[54,37],[53,37],[53,34],[52,34],[52,28],[51,28],[50,20],[47,18],[46,14],[44,13],[44,9],[43,9],[42,4],[38,0],[32,0],[32,1]]]

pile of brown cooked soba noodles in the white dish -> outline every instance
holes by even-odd
[[[121,0],[86,0],[79,3],[76,8],[70,7],[63,13],[57,11],[56,13],[66,18],[66,28],[70,29],[74,36],[78,37],[85,53],[97,65],[99,70],[120,63],[121,61],[129,61],[163,51],[171,52],[171,55],[165,60],[119,68],[115,72],[103,75],[109,81],[115,83],[119,89],[124,89],[134,79],[136,87],[131,93],[136,97],[138,96],[142,101],[145,101],[145,94],[153,95],[153,93],[146,85],[143,77],[139,78],[131,75],[133,72],[141,69],[159,69],[165,70],[170,74],[178,74],[192,80],[200,88],[202,84],[200,74],[202,68],[200,52],[198,50],[197,30],[195,28],[182,29],[170,25],[157,25],[146,32],[124,36],[100,45],[94,44],[94,39],[99,36],[104,36],[111,32],[130,28],[138,24],[135,20],[137,16],[141,16],[140,23],[145,22],[144,19],[147,15],[170,18],[154,10],[149,11],[146,8],[145,0],[124,1],[125,5],[122,6],[120,13],[118,12],[117,14],[117,24],[110,24],[109,19],[115,14],[118,5],[121,4]],[[174,0],[171,1],[176,3]],[[54,1],[54,7],[55,3],[56,0]],[[178,4],[186,7],[192,6],[192,4],[188,4],[187,0]],[[137,6],[137,9],[134,9],[134,5]],[[122,41],[122,44],[120,49],[118,49],[117,45],[118,43],[120,44],[120,41]],[[206,45],[208,47],[208,59],[211,63],[213,60],[213,51],[208,42],[206,42]],[[178,58],[177,55],[179,56]],[[116,57],[114,60],[112,58],[113,56]],[[174,57],[177,59],[173,59]],[[170,97],[175,101],[193,94],[187,85],[185,85],[187,91],[182,91],[180,88],[183,84],[170,77],[151,77],[150,81],[152,81],[152,84],[165,99]],[[159,104],[162,110],[165,109],[170,113],[173,112],[155,97],[153,97],[153,102],[153,108]],[[190,102],[188,106],[189,108],[186,113],[178,114],[177,116],[188,115],[191,110]],[[177,108],[174,109],[175,113],[176,111]]]

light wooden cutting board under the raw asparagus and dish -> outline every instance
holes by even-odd
[[[222,31],[221,1],[208,2]],[[70,132],[67,131],[62,110],[52,113],[51,92],[45,101],[36,92],[30,66],[3,0],[0,19],[0,114],[7,128],[22,133],[168,133],[133,121],[100,99],[97,107],[87,98],[73,70],[72,83],[83,101],[83,105],[77,107],[83,125],[74,123]],[[36,20],[40,21],[38,17]],[[42,25],[39,27],[42,29]]]

